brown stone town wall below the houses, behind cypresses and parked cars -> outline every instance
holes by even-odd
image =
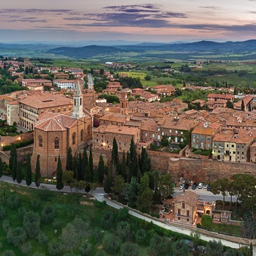
[[[249,173],[256,176],[256,165],[252,163],[220,162],[212,159],[189,159],[173,158],[172,154],[162,151],[147,151],[151,158],[151,165],[154,170],[170,172],[173,181],[179,181],[184,177],[189,181],[210,183],[219,178],[230,178],[236,173]],[[88,153],[89,154],[89,153]],[[99,162],[99,155],[102,154],[105,164],[111,159],[110,151],[93,149],[94,165]],[[121,159],[122,154],[119,154]]]

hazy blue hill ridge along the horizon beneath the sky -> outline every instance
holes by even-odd
[[[256,50],[256,39],[250,39],[243,42],[214,42],[203,40],[199,42],[173,44],[144,42],[139,43],[138,45],[89,45],[81,48],[59,47],[48,50],[48,53],[83,59],[102,54],[123,53],[129,51],[145,54],[146,50],[171,51],[174,53],[203,53],[209,51],[212,53],[243,53],[245,51]]]

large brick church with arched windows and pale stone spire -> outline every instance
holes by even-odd
[[[83,95],[79,83],[73,97],[73,111],[69,113],[43,113],[34,122],[34,151],[31,158],[35,170],[37,155],[40,160],[41,176],[56,176],[58,157],[65,170],[67,149],[72,154],[83,148],[92,139],[92,118],[83,109]]]

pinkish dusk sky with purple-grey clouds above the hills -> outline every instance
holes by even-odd
[[[256,0],[1,1],[0,42],[256,38]]]

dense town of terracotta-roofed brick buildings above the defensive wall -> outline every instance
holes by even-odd
[[[0,96],[1,119],[34,132],[32,162],[37,154],[45,159],[43,176],[53,176],[59,155],[66,162],[68,147],[74,152],[84,146],[111,151],[113,138],[119,152],[127,152],[133,138],[138,152],[143,147],[175,158],[256,162],[254,94],[236,95],[227,87],[216,93],[211,86],[192,84],[181,89],[171,84],[130,87],[122,85],[126,74],[115,78],[108,71],[113,65],[134,68],[107,62],[105,69],[95,69],[94,78],[105,79],[105,89],[95,92],[91,74],[81,68],[37,67],[29,59],[0,62],[1,80],[10,72],[11,83],[20,87]],[[182,102],[177,90],[208,91],[207,99]],[[2,136],[1,148],[16,139]]]

